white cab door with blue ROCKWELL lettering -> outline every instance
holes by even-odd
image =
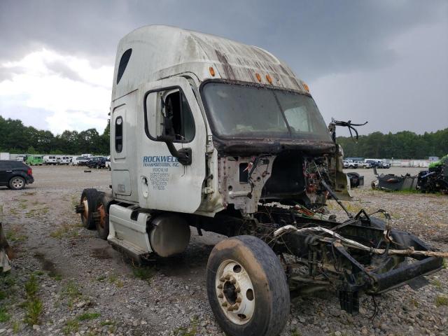
[[[193,213],[205,179],[207,131],[186,78],[144,85],[139,141],[141,207]]]

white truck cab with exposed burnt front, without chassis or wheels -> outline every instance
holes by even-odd
[[[347,194],[309,87],[265,50],[142,27],[120,41],[114,78],[118,200],[213,217],[229,206],[250,215],[259,202],[322,207],[320,179]]]

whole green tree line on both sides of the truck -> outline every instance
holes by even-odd
[[[373,132],[361,135],[357,141],[351,137],[337,137],[344,156],[361,158],[427,159],[448,153],[448,128],[437,132],[416,134],[403,131],[383,134]],[[0,151],[28,154],[80,154],[109,155],[109,123],[103,134],[91,128],[82,132],[64,131],[54,135],[50,131],[36,130],[23,125],[21,120],[0,116]]]

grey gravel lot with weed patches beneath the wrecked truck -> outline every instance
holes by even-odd
[[[36,183],[25,190],[0,188],[3,225],[16,253],[12,271],[0,278],[0,335],[223,335],[205,291],[207,258],[222,236],[204,232],[200,237],[192,230],[183,255],[134,267],[95,232],[80,228],[73,211],[83,188],[109,190],[109,171],[33,170]],[[370,190],[372,169],[348,171],[365,176],[365,188],[354,190],[355,200],[347,205],[351,211],[386,209],[395,228],[448,251],[446,195]],[[335,202],[329,208],[344,219]],[[357,316],[340,311],[332,292],[297,298],[281,335],[448,335],[447,279],[448,270],[442,269],[419,290],[404,286],[381,295],[373,320],[370,297],[361,299]],[[32,325],[38,302],[39,324]]]

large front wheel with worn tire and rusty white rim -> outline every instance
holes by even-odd
[[[289,316],[289,288],[280,260],[253,236],[216,244],[207,263],[207,295],[227,335],[279,335]]]

